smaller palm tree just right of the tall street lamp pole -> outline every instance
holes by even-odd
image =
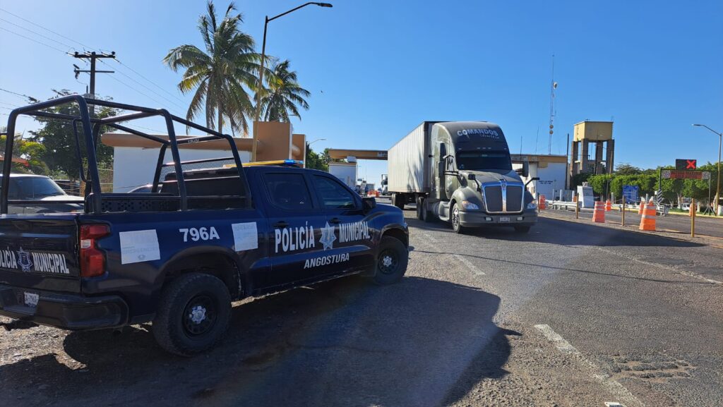
[[[309,110],[308,98],[311,93],[296,82],[296,71],[288,69],[289,61],[275,61],[272,64],[272,74],[268,75],[266,85],[268,89],[263,90],[261,106],[265,121],[288,121],[289,116],[296,116],[301,119],[299,109]]]

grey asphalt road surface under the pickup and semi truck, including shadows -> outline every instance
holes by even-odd
[[[723,249],[542,218],[456,235],[406,211],[406,278],[244,301],[221,346],[0,333],[12,406],[723,405]]]

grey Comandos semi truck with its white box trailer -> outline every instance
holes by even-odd
[[[513,170],[495,123],[424,121],[390,148],[388,158],[392,204],[404,209],[415,203],[421,220],[443,220],[456,233],[487,226],[526,233],[537,222],[536,202],[521,179],[529,166]]]

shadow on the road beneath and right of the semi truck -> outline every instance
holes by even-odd
[[[432,231],[453,234],[450,226],[443,222],[424,222],[415,218],[406,218],[409,226]],[[605,228],[593,224],[567,222],[552,218],[539,218],[536,226],[528,234],[519,234],[510,227],[490,226],[471,229],[469,234],[487,239],[508,241],[537,241],[540,243],[560,244],[562,246],[628,246],[628,247],[702,247],[705,244],[693,241],[671,239],[654,234],[639,234],[615,228]]]

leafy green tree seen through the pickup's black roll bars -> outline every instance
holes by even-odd
[[[69,90],[53,90],[55,95],[49,100],[72,95]],[[75,103],[66,103],[62,106],[48,108],[46,111],[51,113],[61,113],[72,116],[78,116],[80,111]],[[113,108],[96,106],[95,116],[103,119],[110,116],[116,116],[118,111]],[[53,172],[67,173],[70,179],[78,179],[80,176],[80,163],[76,152],[76,139],[73,132],[73,126],[70,121],[47,119],[44,117],[36,117],[35,121],[40,123],[38,130],[30,132],[31,136],[28,140],[38,142],[43,145],[42,150],[38,150],[38,159],[46,163],[48,170]],[[101,127],[100,134],[111,131],[111,127]],[[81,157],[85,162],[87,157],[85,150],[85,136],[82,134],[82,127],[78,127],[78,137],[80,138]],[[110,167],[113,164],[113,147],[98,142],[95,148],[95,158],[98,166]],[[85,164],[83,165],[85,167]]]

